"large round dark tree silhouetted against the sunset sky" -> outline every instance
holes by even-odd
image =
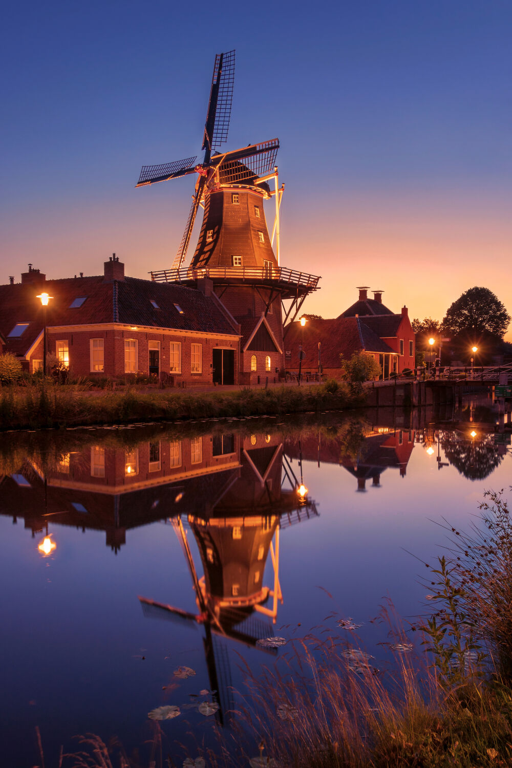
[[[448,307],[443,320],[445,333],[457,335],[491,333],[503,339],[510,315],[497,296],[488,288],[475,286],[465,291]]]

